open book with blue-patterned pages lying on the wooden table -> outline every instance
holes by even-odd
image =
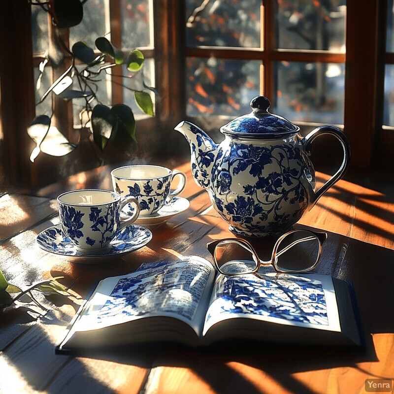
[[[207,260],[185,256],[100,281],[56,351],[153,341],[197,346],[234,338],[363,344],[346,281],[267,267],[258,275],[222,275]]]

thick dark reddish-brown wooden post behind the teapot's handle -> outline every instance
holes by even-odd
[[[344,131],[352,147],[351,164],[372,165],[375,139],[379,0],[347,0]],[[367,22],[366,22],[367,21]]]

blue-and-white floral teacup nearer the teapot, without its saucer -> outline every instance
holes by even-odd
[[[170,191],[172,180],[178,176],[179,183]],[[186,185],[186,175],[161,165],[125,165],[111,171],[114,190],[122,197],[135,197],[139,202],[140,216],[156,213],[171,199],[178,196]]]

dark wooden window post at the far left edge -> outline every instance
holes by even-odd
[[[3,134],[0,161],[6,187],[3,191],[33,186],[39,173],[29,160],[35,144],[26,132],[34,118],[31,19],[27,2],[0,2],[0,134]]]

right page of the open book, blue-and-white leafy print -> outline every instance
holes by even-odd
[[[203,334],[215,323],[236,317],[340,331],[329,276],[277,274],[271,267],[261,267],[256,275],[217,277]]]

